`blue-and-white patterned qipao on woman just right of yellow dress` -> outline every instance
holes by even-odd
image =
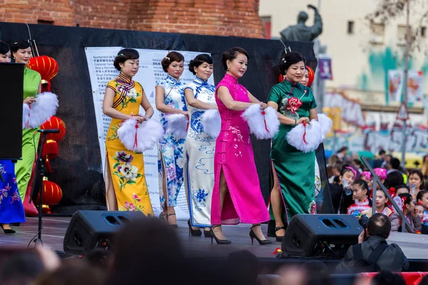
[[[184,98],[185,83],[177,81],[172,76],[167,76],[163,81],[156,82],[156,86],[162,86],[165,93],[163,100],[165,105],[172,108],[187,111]],[[177,139],[173,134],[166,133],[167,121],[165,113],[161,113],[161,124],[165,135],[159,142],[158,151],[158,174],[159,174],[159,197],[161,207],[165,204],[163,196],[163,177],[166,178],[166,187],[168,192],[168,206],[175,207],[177,205],[177,197],[180,188],[183,186],[183,151],[185,138]],[[163,172],[165,167],[165,173]]]

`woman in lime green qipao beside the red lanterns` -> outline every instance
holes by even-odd
[[[11,44],[11,53],[16,63],[29,63],[31,48],[26,41],[18,41]],[[41,76],[37,71],[30,68],[24,69],[24,103],[31,105],[36,102],[36,95],[41,92]],[[34,159],[36,158],[37,146],[39,145],[39,133],[34,129],[22,130],[22,160],[15,164],[16,182],[18,184],[21,202],[24,197],[31,178]]]

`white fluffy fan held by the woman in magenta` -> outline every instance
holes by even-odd
[[[253,133],[256,138],[259,140],[273,138],[280,128],[277,112],[272,107],[265,108],[265,115],[262,112],[260,105],[253,104],[241,116],[248,122],[250,133]]]

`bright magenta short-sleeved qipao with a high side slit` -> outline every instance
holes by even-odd
[[[243,111],[229,110],[217,97],[220,86],[228,88],[233,100],[250,102],[248,91],[228,74],[218,83],[215,102],[221,117],[220,135],[215,142],[214,189],[211,224],[259,224],[270,219],[260,190],[253,146]],[[220,211],[220,173],[223,170],[229,192]]]

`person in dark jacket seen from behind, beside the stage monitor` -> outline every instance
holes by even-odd
[[[376,213],[370,219],[363,216],[360,224],[365,229],[358,237],[358,244],[350,247],[345,257],[337,265],[338,271],[375,272],[390,270],[405,271],[409,261],[397,244],[387,244],[391,232],[391,222],[384,214]]]

